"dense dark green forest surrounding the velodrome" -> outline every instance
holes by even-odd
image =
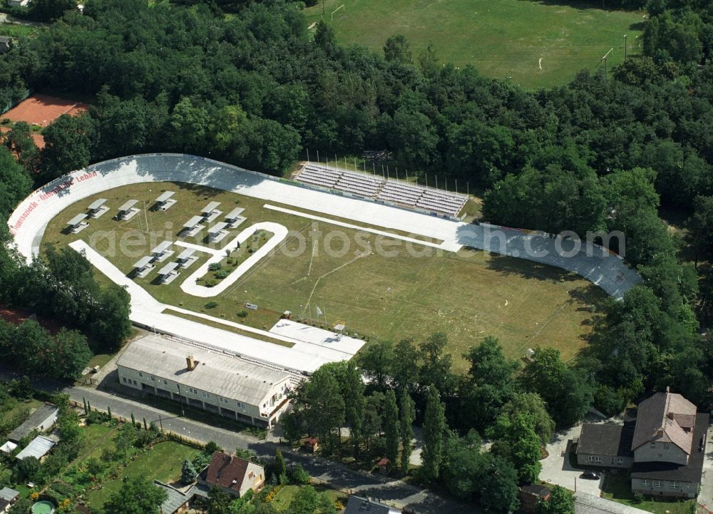
[[[644,55],[610,76],[582,71],[566,86],[534,92],[441,63],[433,46],[413,55],[401,36],[389,38],[383,55],[339,46],[327,24],[308,31],[301,8],[286,0],[88,0],[83,14],[26,13],[56,21],[0,58],[0,104],[33,88],[91,98],[92,108],[58,118],[41,151],[29,127],[6,135],[2,215],[33,185],[120,155],[186,152],[279,174],[304,148],[390,150],[414,173],[438,171],[477,186],[483,219],[625,233],[625,259],[644,282],[607,306],[587,351],[557,364],[576,382],[565,390],[573,404],[615,413],[643,391],[672,386],[699,406],[713,405],[713,347],[700,334],[713,315],[709,2],[651,0]],[[688,220],[686,238],[672,235],[662,207]],[[681,262],[683,249],[694,250],[694,263]],[[34,306],[90,332],[106,329],[107,315],[88,306],[110,302],[118,321],[128,312],[119,291],[96,286],[72,297],[75,289],[61,287],[93,281],[91,269],[68,255],[33,266],[40,269],[0,255],[0,302]],[[439,389],[446,399],[458,391],[457,384]],[[580,415],[560,416],[558,402],[548,408],[558,423]]]

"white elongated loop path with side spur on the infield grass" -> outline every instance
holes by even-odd
[[[238,267],[233,269],[227,277],[215,284],[215,286],[206,287],[196,284],[196,280],[200,279],[200,277],[205,277],[205,274],[209,271],[208,268],[210,267],[210,264],[222,261],[228,252],[237,250],[240,245],[242,245],[242,243],[244,243],[250,236],[255,234],[257,230],[267,230],[267,232],[272,232],[273,235],[265,242],[264,245],[258,248],[255,252],[252,252],[250,257],[247,257],[245,261],[241,262]],[[190,277],[183,281],[183,284],[180,284],[181,290],[185,293],[193,294],[195,297],[202,298],[210,298],[215,297],[218,294],[222,294],[228,287],[235,284],[237,279],[242,277],[242,275],[245,274],[250,268],[255,266],[255,264],[257,264],[262,257],[265,257],[268,253],[270,253],[270,251],[272,251],[272,249],[284,241],[284,238],[287,237],[287,232],[287,227],[284,227],[284,225],[265,221],[250,225],[250,227],[247,227],[245,230],[240,232],[234,240],[220,249],[202,247],[200,245],[193,245],[192,243],[183,241],[175,241],[175,245],[177,246],[194,248],[200,252],[212,254],[212,257],[209,257],[200,268],[196,269]]]

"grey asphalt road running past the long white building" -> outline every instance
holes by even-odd
[[[14,378],[13,374],[0,370],[0,379],[11,378]],[[39,389],[46,391],[56,391],[58,389],[58,384],[48,380],[38,379],[35,381],[35,385]],[[157,424],[160,423],[165,430],[180,433],[183,436],[202,442],[215,441],[218,446],[225,448],[227,451],[233,451],[235,448],[247,448],[257,453],[260,458],[268,459],[275,456],[275,448],[279,446],[272,441],[260,441],[249,434],[236,433],[224,428],[209,426],[193,419],[177,417],[173,413],[141,404],[138,401],[118,396],[109,391],[98,391],[88,387],[76,386],[65,386],[61,390],[79,403],[86,399],[92,408],[97,408],[100,411],[106,411],[109,407],[113,415],[123,418],[130,418],[133,413],[137,421],[146,418],[148,423],[151,421],[155,421]],[[287,446],[279,447],[288,465],[289,463],[299,463],[310,476],[330,483],[335,488],[371,498],[378,498],[398,508],[406,508],[409,512],[416,514],[477,514],[479,512],[476,505],[462,504],[441,498],[441,496],[432,493],[430,490],[409,485],[401,480],[393,480],[378,474],[357,472],[324,458],[294,452]]]

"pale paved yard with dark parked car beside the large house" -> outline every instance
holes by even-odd
[[[567,456],[568,441],[579,437],[580,431],[582,431],[581,423],[569,430],[555,433],[553,438],[550,439],[550,443],[547,445],[549,455],[542,461],[540,480],[561,485],[570,490],[599,496],[601,493],[601,480],[580,478],[583,470],[570,466],[570,460]]]

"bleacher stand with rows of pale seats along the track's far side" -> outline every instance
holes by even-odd
[[[458,212],[468,200],[466,195],[457,192],[385,179],[368,173],[340,170],[322,164],[307,163],[297,173],[296,178],[305,184],[386,200],[399,205],[419,207],[448,216],[458,216]]]

